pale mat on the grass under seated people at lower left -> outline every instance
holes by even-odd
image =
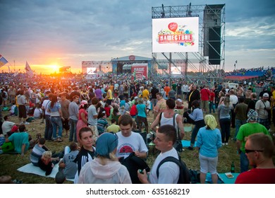
[[[43,177],[55,178],[56,173],[59,172],[59,164],[56,163],[56,165],[54,165],[53,170],[51,171],[51,174],[47,175],[47,176],[45,175],[44,170],[41,170],[39,167],[33,165],[32,163],[28,163],[26,165],[23,165],[22,167],[18,168],[17,170],[20,171],[20,172],[23,172],[23,173],[32,173],[32,174],[40,175],[40,176],[43,176]],[[73,182],[73,179],[66,179],[66,180]]]

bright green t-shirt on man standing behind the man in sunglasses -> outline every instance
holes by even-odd
[[[264,133],[266,135],[269,135],[269,132],[264,125],[259,124],[257,122],[255,123],[247,123],[240,126],[239,132],[237,134],[236,139],[242,142],[242,146],[240,147],[240,151],[245,152],[245,142],[246,137],[251,134],[257,134],[257,133]]]

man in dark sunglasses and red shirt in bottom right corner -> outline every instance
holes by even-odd
[[[245,155],[254,168],[240,173],[236,184],[275,184],[274,144],[270,136],[262,133],[247,136]]]

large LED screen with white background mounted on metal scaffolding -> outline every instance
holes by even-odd
[[[153,18],[152,52],[198,52],[199,18]]]

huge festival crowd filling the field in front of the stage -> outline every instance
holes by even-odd
[[[2,117],[0,110],[0,120],[4,119],[0,151],[10,152],[12,145],[13,152],[23,156],[32,147],[25,125],[39,119],[45,124],[44,134],[35,141],[30,160],[45,170],[46,175],[59,163],[60,173],[56,176],[74,178],[75,183],[132,183],[127,168],[119,161],[128,158],[130,153],[145,161],[147,141],[153,138],[151,141],[160,151],[159,156],[149,176],[147,170],[138,171],[138,179],[141,183],[177,183],[180,170],[176,163],[167,162],[160,168],[158,165],[167,156],[180,160],[178,152],[183,151],[184,124],[190,123],[194,127],[188,150],[195,150],[197,139],[201,183],[207,173],[212,175],[212,182],[217,183],[218,149],[228,146],[229,141],[236,141],[240,154],[241,179],[237,178],[236,182],[275,183],[271,159],[275,86],[264,86],[256,95],[255,83],[229,88],[223,83],[211,87],[178,80],[171,84],[164,81],[161,85],[124,77],[41,81],[40,76],[28,83],[23,78],[7,81],[1,87],[0,109],[9,107],[10,111]],[[9,78],[12,76],[6,79]],[[148,122],[150,113],[154,117],[152,124]],[[18,117],[17,124],[9,121],[11,116]],[[232,128],[236,132],[230,139]],[[145,138],[142,133],[146,134]],[[54,156],[45,146],[47,141],[56,144],[67,141],[66,137],[68,146],[62,154]],[[260,144],[264,138],[267,144]],[[60,158],[63,160],[59,161]],[[262,164],[261,160],[267,163]],[[253,171],[248,171],[250,165]],[[266,170],[255,171],[255,168]],[[254,180],[258,174],[270,179]]]

